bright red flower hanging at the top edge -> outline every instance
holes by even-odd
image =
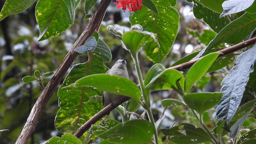
[[[123,11],[126,10],[126,6],[127,6],[127,8],[131,12],[136,12],[136,10],[138,9],[141,10],[142,0],[116,0],[114,4],[118,4],[117,8],[122,7]]]

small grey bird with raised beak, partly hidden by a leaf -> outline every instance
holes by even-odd
[[[124,59],[117,60],[116,63],[112,66],[112,68],[106,72],[106,74],[122,76],[124,78],[129,79],[127,68],[126,68],[126,61]],[[104,107],[106,107],[108,104],[112,104],[112,102],[114,102],[120,97],[121,95],[119,94],[103,92],[102,101],[103,101]]]

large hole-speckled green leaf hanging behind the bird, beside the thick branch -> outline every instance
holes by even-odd
[[[73,132],[75,127],[78,129],[103,108],[101,102],[88,102],[91,96],[101,96],[102,91],[94,88],[69,86],[86,76],[87,68],[88,62],[74,65],[58,90],[60,110],[55,119],[55,126],[61,132]],[[106,66],[100,58],[94,55],[90,63],[89,74],[106,73],[106,71]],[[78,116],[80,116],[79,121]],[[76,126],[77,122],[78,126]]]

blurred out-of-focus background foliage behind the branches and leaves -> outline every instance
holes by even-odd
[[[130,28],[128,10],[122,12],[122,9],[116,8],[114,2],[115,0],[109,6],[99,30],[100,38],[108,44],[113,56],[112,62],[106,66],[110,68],[116,60],[125,58],[128,62],[130,80],[138,84],[130,54],[122,48],[120,40],[116,39],[106,28],[108,25],[114,25],[124,31],[128,31]],[[88,24],[88,20],[84,20],[84,0],[82,0],[76,10],[75,22],[68,30],[60,36],[37,42],[39,32],[34,16],[35,4],[24,12],[8,16],[0,22],[0,130],[9,130],[0,132],[1,144],[11,144],[16,141],[32,106],[41,93],[38,82],[24,84],[21,79],[24,76],[32,76],[35,70],[39,70],[41,74],[56,72],[63,58]],[[0,7],[2,8],[3,5],[4,1],[1,0]],[[201,50],[216,35],[216,32],[211,30],[206,23],[195,18],[192,12],[193,3],[178,0],[175,8],[180,15],[180,25],[172,50],[162,62],[166,68],[180,58]],[[95,8],[92,8],[89,13],[92,14],[93,10]],[[88,57],[85,55],[78,56],[73,64],[86,62],[87,59]],[[143,76],[145,76],[153,63],[146,58],[143,51],[140,52],[139,60]],[[228,65],[216,72],[205,74],[193,87],[193,91],[218,92],[221,80],[231,66]],[[44,78],[44,86],[50,78]],[[44,142],[55,135],[61,136],[54,126],[54,118],[59,109],[56,93],[54,92],[44,108],[36,131],[28,141],[29,144]],[[160,118],[161,112],[164,110],[161,105],[161,100],[164,98],[178,97],[172,90],[153,91],[152,108],[155,120]],[[139,114],[142,112],[143,109],[138,110]],[[214,113],[214,110],[210,110],[204,114],[204,122],[210,129],[214,128],[217,122]],[[166,110],[165,114],[166,118],[162,122],[162,128],[181,122],[198,123],[190,111],[183,106],[172,106]],[[113,119],[120,120],[118,115],[116,111],[110,114]],[[248,118],[244,125],[254,128],[255,119]],[[164,139],[164,136],[162,138]]]

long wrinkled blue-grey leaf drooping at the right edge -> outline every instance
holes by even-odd
[[[254,71],[255,62],[256,46],[237,57],[236,65],[222,81],[220,92],[224,92],[224,94],[216,107],[217,120],[226,119],[229,122],[234,117],[246,90],[250,73]]]

